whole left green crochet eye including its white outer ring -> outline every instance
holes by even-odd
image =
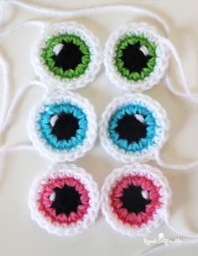
[[[94,80],[102,63],[99,41],[73,22],[49,26],[34,47],[34,69],[44,83],[76,89]]]

